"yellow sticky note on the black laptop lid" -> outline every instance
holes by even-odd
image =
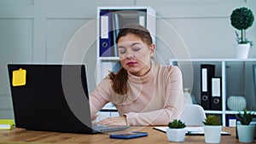
[[[13,86],[22,86],[26,84],[26,70],[20,68],[13,71]]]

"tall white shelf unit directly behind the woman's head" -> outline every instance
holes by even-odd
[[[115,24],[113,27],[119,26],[120,23],[125,23],[125,25],[130,23],[139,23],[140,25],[144,25],[148,31],[151,34],[152,40],[155,43],[155,10],[148,6],[136,6],[136,7],[98,7],[97,8],[97,34],[96,37],[96,60],[97,60],[97,66],[96,66],[96,84],[100,83],[102,79],[106,76],[109,70],[112,70],[112,67],[114,64],[119,60],[119,57],[117,55],[116,49],[112,50],[111,54],[109,55],[101,55],[100,51],[100,41],[101,41],[101,12],[115,12],[115,14],[120,15],[122,19],[116,18],[115,14],[109,14],[112,17],[108,20],[113,20],[113,24]],[[114,16],[113,16],[114,15]],[[112,19],[114,17],[114,19]],[[108,17],[109,18],[109,17]],[[118,22],[114,21],[116,19]],[[106,21],[104,21],[106,22]],[[119,27],[120,28],[120,27]],[[113,33],[111,33],[113,34]],[[112,38],[112,37],[111,37]],[[111,42],[114,42],[114,39],[111,39]],[[112,43],[113,44],[113,43]],[[116,48],[116,47],[114,47]],[[113,49],[113,47],[111,48]],[[113,54],[112,54],[113,53]],[[111,62],[113,64],[111,64]]]

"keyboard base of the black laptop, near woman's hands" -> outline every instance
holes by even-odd
[[[93,130],[95,132],[111,132],[111,131],[125,130],[128,128],[129,126],[109,126],[109,125],[96,124],[94,125]]]

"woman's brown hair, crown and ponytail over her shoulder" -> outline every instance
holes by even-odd
[[[128,33],[132,33],[137,35],[137,37],[141,37],[143,43],[147,43],[148,45],[153,43],[150,32],[148,32],[145,27],[138,24],[131,24],[129,26],[125,26],[119,29],[119,34],[116,37],[115,43],[117,44],[119,42],[119,38],[125,37]],[[126,72],[124,67],[121,67],[119,72],[117,72],[116,74],[114,72],[110,72],[108,76],[113,82],[112,88],[114,92],[119,95],[127,94],[129,90],[127,87],[128,73]]]

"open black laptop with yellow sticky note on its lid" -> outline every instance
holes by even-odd
[[[94,134],[129,126],[92,124],[84,65],[9,64],[15,126]]]

